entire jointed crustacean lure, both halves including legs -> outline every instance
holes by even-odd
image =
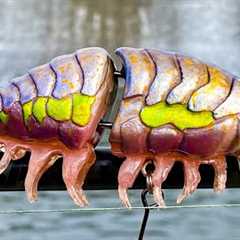
[[[119,196],[130,207],[127,189],[152,160],[153,193],[164,206],[161,185],[175,161],[184,165],[180,203],[200,181],[199,165],[212,164],[214,189],[226,183],[227,154],[240,155],[240,80],[201,61],[152,49],[119,48],[125,90],[109,137],[112,153],[125,157],[118,175]],[[97,128],[110,111],[114,64],[101,48],[53,59],[0,88],[0,161],[31,152],[25,188],[37,197],[41,175],[63,157],[63,179],[76,204],[84,206],[84,179],[95,161]]]

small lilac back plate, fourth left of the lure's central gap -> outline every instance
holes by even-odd
[[[21,104],[25,104],[37,96],[35,84],[29,74],[15,78],[12,82],[18,87]]]

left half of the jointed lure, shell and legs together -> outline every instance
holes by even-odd
[[[10,160],[31,152],[25,189],[37,198],[42,174],[63,157],[63,179],[80,206],[85,176],[95,161],[99,121],[113,90],[113,64],[101,48],[87,48],[53,59],[0,88],[0,142],[5,153],[3,172]]]

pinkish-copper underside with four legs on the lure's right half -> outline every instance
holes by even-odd
[[[166,180],[176,161],[182,162],[184,169],[184,187],[182,193],[177,198],[177,203],[181,203],[196,190],[201,179],[199,174],[200,164],[211,164],[213,166],[215,171],[214,191],[221,192],[225,189],[227,173],[224,155],[216,155],[203,159],[181,152],[169,152],[156,155],[131,154],[126,157],[118,174],[118,192],[124,206],[131,207],[127,190],[133,186],[144,164],[149,160],[152,160],[155,165],[152,174],[153,195],[159,207],[165,206],[162,197],[162,183]]]

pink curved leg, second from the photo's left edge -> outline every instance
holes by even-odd
[[[36,146],[32,148],[25,179],[25,190],[30,202],[37,200],[37,187],[41,176],[60,157],[59,150],[52,149],[46,152],[45,147]]]

